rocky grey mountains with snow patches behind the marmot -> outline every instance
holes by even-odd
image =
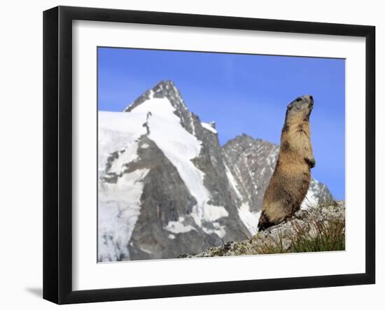
[[[176,258],[256,232],[279,147],[246,135],[221,147],[172,81],[99,112],[98,143],[99,261]],[[307,196],[332,199],[316,181]]]

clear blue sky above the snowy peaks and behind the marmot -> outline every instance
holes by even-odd
[[[98,48],[99,111],[122,111],[160,80],[216,121],[222,145],[242,133],[279,144],[287,104],[311,94],[312,174],[344,199],[344,59]]]

